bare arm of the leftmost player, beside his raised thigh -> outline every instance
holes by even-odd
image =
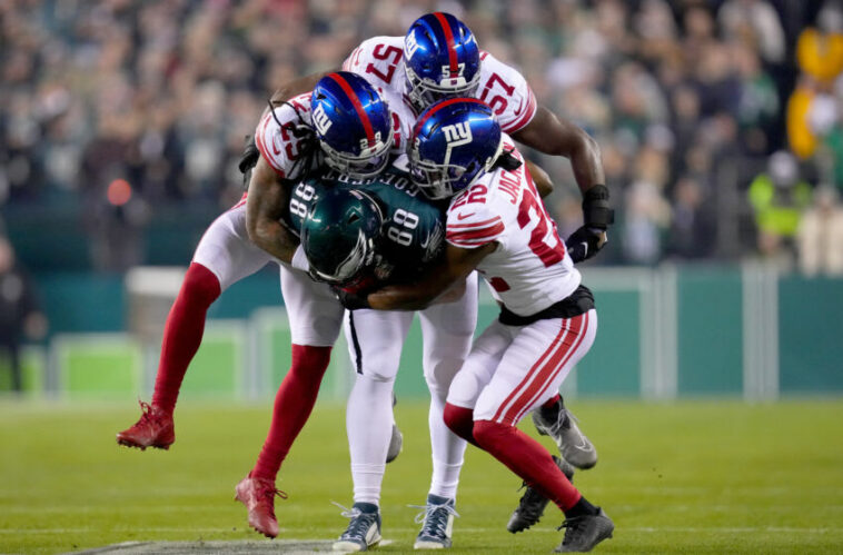
[[[289,184],[261,157],[251,172],[246,197],[246,230],[249,239],[277,259],[289,262],[298,239],[281,224],[289,204]]]

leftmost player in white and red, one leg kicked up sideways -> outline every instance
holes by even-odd
[[[315,92],[295,96],[274,107],[258,125],[259,153],[241,167],[249,170],[257,162],[247,175],[258,177],[258,185],[250,187],[239,202],[218,217],[199,241],[165,326],[152,403],[141,403],[140,419],[117,435],[119,444],[141,449],[169,448],[175,440],[172,412],[179,387],[201,343],[208,307],[231,284],[268,262],[280,260],[277,252],[270,254],[249,239],[254,236],[258,241],[266,240],[271,229],[249,226],[255,218],[250,218],[248,210],[251,209],[254,216],[267,191],[294,187],[323,159],[328,166],[365,177],[380,171],[387,161],[385,153],[396,148],[391,141],[396,120],[365,80],[351,73],[337,73],[319,81]],[[351,96],[358,101],[366,99],[361,112],[350,109]],[[335,142],[320,142],[315,137],[311,101],[349,108],[325,112],[329,119],[343,122],[345,135],[328,138]],[[360,113],[366,116],[370,129],[365,129],[359,121]],[[369,143],[369,131],[379,139]],[[366,141],[365,148],[360,140]],[[258,198],[248,200],[251,197]],[[301,257],[304,259],[304,254]],[[270,537],[278,534],[274,496],[280,493],[275,487],[275,477],[316,402],[345,311],[327,285],[317,284],[305,272],[285,265],[280,272],[290,319],[292,364],[276,395],[272,424],[255,468],[237,488],[238,498],[249,507],[249,523]],[[395,456],[400,436],[394,434],[393,437],[397,446],[390,446],[389,452]]]

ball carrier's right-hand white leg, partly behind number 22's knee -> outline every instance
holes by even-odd
[[[466,291],[454,303],[434,305],[419,313],[424,337],[425,381],[430,390],[428,425],[433,476],[425,502],[422,531],[414,547],[450,547],[456,515],[456,495],[466,442],[445,425],[443,413],[454,376],[472,349],[477,325],[477,276],[466,281]]]

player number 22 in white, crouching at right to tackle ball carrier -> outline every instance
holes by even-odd
[[[428,108],[414,128],[410,168],[429,198],[450,199],[444,259],[415,284],[346,303],[424,309],[475,269],[483,275],[502,303],[500,316],[454,378],[445,422],[559,507],[567,529],[557,552],[591,551],[612,537],[614,524],[516,425],[557,395],[591,348],[597,329],[593,296],[488,106],[449,99]]]

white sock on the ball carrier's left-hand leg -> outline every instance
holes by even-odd
[[[380,503],[386,452],[393,436],[394,379],[377,380],[357,375],[346,407],[348,452],[355,503]]]

